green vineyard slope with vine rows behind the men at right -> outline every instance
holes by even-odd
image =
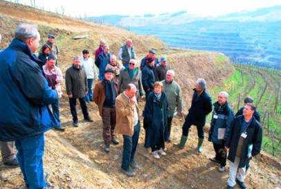
[[[281,154],[280,81],[281,71],[237,64],[235,73],[224,86],[210,91],[214,99],[219,91],[228,91],[228,101],[235,112],[243,106],[244,98],[251,96],[261,115],[264,129],[263,150],[278,157]]]

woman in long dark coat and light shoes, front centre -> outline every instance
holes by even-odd
[[[143,111],[145,127],[145,147],[152,148],[154,158],[165,156],[165,127],[167,125],[167,97],[163,93],[163,84],[155,82],[154,92],[149,93]]]

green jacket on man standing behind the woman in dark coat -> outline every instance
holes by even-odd
[[[161,81],[163,83],[163,91],[167,96],[168,106],[168,116],[174,116],[175,111],[183,111],[183,102],[181,98],[181,87],[175,81],[167,83],[165,80]]]

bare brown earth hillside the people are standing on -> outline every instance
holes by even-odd
[[[12,10],[12,11],[11,11]],[[12,39],[13,30],[20,21],[29,21],[39,25],[39,32],[45,39],[48,33],[57,35],[57,45],[61,53],[59,66],[62,71],[71,65],[73,55],[79,55],[84,48],[93,51],[100,38],[105,38],[111,51],[118,48],[127,37],[134,40],[138,61],[148,48],[156,48],[158,54],[166,55],[176,71],[176,81],[181,84],[185,101],[185,114],[190,105],[194,80],[206,78],[208,87],[221,85],[228,75],[234,72],[226,56],[220,53],[203,51],[182,51],[169,49],[163,42],[151,36],[138,36],[114,27],[89,24],[84,21],[61,17],[25,6],[0,1],[0,33],[4,36],[1,48]],[[87,34],[86,39],[73,40],[75,35]],[[61,120],[66,132],[50,131],[46,134],[45,172],[53,188],[224,188],[227,172],[217,172],[217,165],[208,158],[214,155],[212,145],[206,141],[202,154],[197,154],[197,134],[194,127],[190,132],[188,145],[178,150],[172,143],[167,144],[167,156],[153,159],[144,143],[144,130],[141,131],[136,161],[141,165],[137,176],[129,179],[120,174],[122,158],[121,143],[111,147],[111,152],[103,152],[102,122],[96,105],[89,105],[89,114],[93,124],[80,123],[80,127],[71,127],[69,102],[61,100]],[[143,108],[144,103],[140,103]],[[78,114],[81,111],[78,108]],[[81,117],[80,117],[81,118]],[[172,140],[178,141],[181,135],[183,118],[175,118],[172,128]],[[206,131],[207,132],[207,131]],[[280,186],[280,163],[267,154],[253,161],[246,179],[249,188],[275,188]],[[0,188],[19,188],[23,185],[19,168],[7,169],[0,165]]]

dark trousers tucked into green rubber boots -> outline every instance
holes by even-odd
[[[183,136],[188,136],[191,125],[196,125],[198,138],[204,138],[204,125],[201,122],[193,120],[191,116],[186,116],[183,123]]]

